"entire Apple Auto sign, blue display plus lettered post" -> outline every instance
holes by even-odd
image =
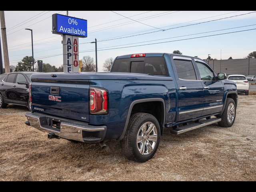
[[[52,33],[63,35],[63,70],[78,73],[79,38],[87,37],[87,20],[60,14],[52,15]]]

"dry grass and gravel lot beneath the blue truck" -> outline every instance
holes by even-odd
[[[236,123],[218,124],[179,136],[164,130],[156,156],[128,161],[118,141],[110,151],[96,144],[48,140],[24,124],[26,108],[0,109],[2,181],[255,181],[256,93],[240,95]]]

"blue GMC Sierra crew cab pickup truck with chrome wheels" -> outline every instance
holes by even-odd
[[[28,126],[48,138],[119,140],[136,162],[153,158],[164,128],[178,135],[218,123],[231,127],[238,92],[199,58],[164,53],[118,56],[110,73],[33,74]]]

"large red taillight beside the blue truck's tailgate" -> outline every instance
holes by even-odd
[[[108,91],[102,88],[90,88],[90,114],[108,114]]]

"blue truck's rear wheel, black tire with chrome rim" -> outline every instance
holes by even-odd
[[[134,114],[121,141],[123,154],[129,160],[147,162],[156,154],[160,133],[159,122],[154,116],[146,113]]]

